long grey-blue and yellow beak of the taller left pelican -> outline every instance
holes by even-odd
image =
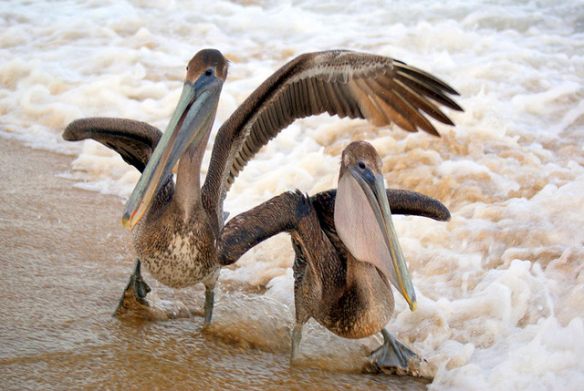
[[[152,153],[141,179],[126,203],[121,223],[129,231],[141,220],[152,198],[172,174],[172,168],[191,143],[201,143],[213,126],[223,80],[185,82],[172,118]],[[193,173],[198,175],[198,173]]]

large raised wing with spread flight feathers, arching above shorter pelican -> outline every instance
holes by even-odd
[[[438,106],[462,110],[448,95],[458,93],[389,57],[342,50],[296,57],[257,87],[219,129],[203,203],[221,217],[225,193],[247,161],[297,118],[327,112],[438,135],[426,116],[454,125]]]

